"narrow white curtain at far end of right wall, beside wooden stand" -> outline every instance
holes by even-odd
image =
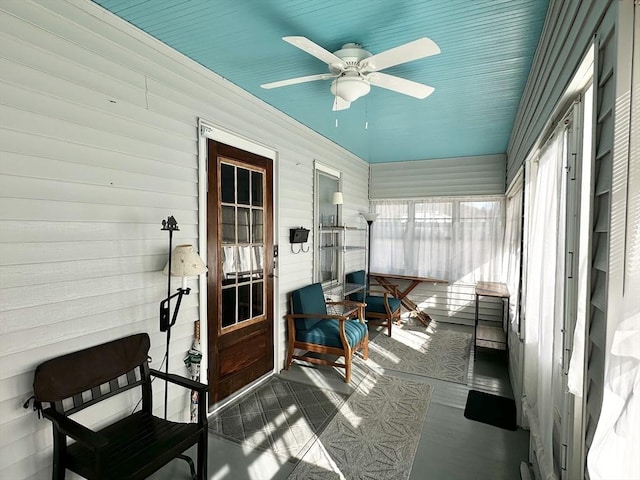
[[[502,247],[502,278],[505,279],[509,296],[509,324],[514,332],[520,331],[520,258],[522,251],[522,176],[518,177],[507,196],[507,213]]]

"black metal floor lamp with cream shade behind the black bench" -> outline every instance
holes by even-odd
[[[169,345],[171,343],[171,327],[176,324],[178,310],[184,295],[189,295],[191,289],[187,288],[187,277],[198,276],[207,271],[207,267],[191,245],[178,245],[173,249],[173,232],[178,232],[178,223],[173,216],[162,221],[163,231],[169,232],[169,261],[162,273],[167,276],[167,298],[160,302],[160,331],[167,332],[165,350],[165,373],[169,374]],[[171,274],[169,274],[171,266]],[[182,277],[182,285],[171,293],[171,277]],[[171,316],[171,299],[176,298],[176,306]],[[164,384],[164,418],[167,418],[168,382]]]

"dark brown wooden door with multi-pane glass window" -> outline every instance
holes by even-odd
[[[273,370],[273,162],[207,148],[211,406]]]

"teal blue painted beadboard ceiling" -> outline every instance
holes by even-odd
[[[151,36],[371,162],[505,153],[548,0],[94,0]],[[429,37],[441,50],[384,70],[435,88],[423,100],[372,87],[333,112],[331,80],[284,42],[373,54]],[[337,126],[336,126],[337,120]],[[367,128],[365,128],[367,126]]]

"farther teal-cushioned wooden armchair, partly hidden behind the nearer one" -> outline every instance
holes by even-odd
[[[358,270],[346,275],[347,283],[366,285],[367,274]],[[349,300],[367,304],[364,318],[372,325],[387,327],[387,334],[391,336],[391,326],[394,321],[400,321],[402,305],[400,300],[385,290],[361,290],[349,295]]]

